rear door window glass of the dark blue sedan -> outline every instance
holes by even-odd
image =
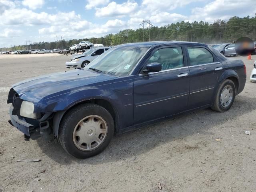
[[[213,56],[206,48],[188,47],[188,54],[191,66],[213,62]]]

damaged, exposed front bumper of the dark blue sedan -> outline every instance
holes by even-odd
[[[10,107],[10,120],[8,121],[12,126],[16,127],[22,133],[24,133],[25,140],[36,140],[40,137],[44,140],[51,140],[52,129],[48,121],[39,122],[32,120],[32,122],[27,122],[24,117],[18,117],[18,115],[12,115],[13,107]]]

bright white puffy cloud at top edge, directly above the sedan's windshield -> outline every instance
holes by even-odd
[[[136,2],[127,1],[122,4],[117,4],[112,1],[108,6],[103,8],[96,8],[95,16],[97,17],[114,17],[114,16],[125,16],[132,14],[138,8]]]

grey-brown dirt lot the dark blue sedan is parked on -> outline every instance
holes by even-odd
[[[256,83],[249,75],[256,56],[238,57],[246,63],[247,82],[228,112],[205,109],[114,136],[104,152],[86,160],[41,138],[25,142],[8,124],[10,86],[67,70],[68,58],[0,55],[0,192],[255,192]],[[34,158],[41,161],[17,162]]]

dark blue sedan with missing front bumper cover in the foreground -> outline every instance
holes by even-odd
[[[246,82],[241,60],[194,42],[116,46],[82,70],[14,84],[10,124],[25,140],[56,138],[77,158],[100,153],[121,133],[211,107],[230,109]]]

